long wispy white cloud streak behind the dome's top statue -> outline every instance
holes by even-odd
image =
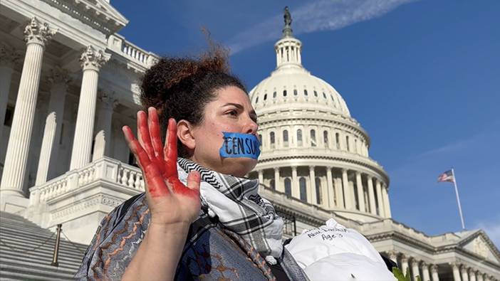
[[[293,33],[311,33],[315,31],[336,30],[360,21],[368,21],[387,14],[402,4],[417,0],[319,0],[291,9]],[[256,46],[270,40],[276,40],[281,34],[283,14],[247,28],[236,34],[226,46],[231,53]]]

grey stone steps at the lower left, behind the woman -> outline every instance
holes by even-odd
[[[73,280],[88,245],[63,237],[58,267],[52,266],[56,233],[0,211],[0,280]]]

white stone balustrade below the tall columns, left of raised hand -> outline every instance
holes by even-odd
[[[144,191],[145,188],[139,168],[103,157],[80,169],[68,171],[41,186],[33,186],[30,189],[30,205],[51,201],[71,191],[95,184],[97,181],[118,188],[132,189],[137,193]]]

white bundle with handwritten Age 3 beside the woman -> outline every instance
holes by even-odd
[[[311,280],[396,280],[363,235],[333,218],[303,231],[286,248]]]

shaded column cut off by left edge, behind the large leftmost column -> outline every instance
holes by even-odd
[[[19,62],[21,55],[16,49],[0,43],[0,144],[6,139],[2,138],[4,132],[5,112],[9,103],[9,92],[11,90],[12,73],[14,65]]]

